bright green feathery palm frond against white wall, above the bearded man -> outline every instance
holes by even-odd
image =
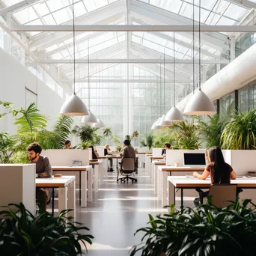
[[[31,103],[28,109],[20,109],[22,114],[20,118],[16,118],[14,124],[17,126],[17,132],[35,132],[40,129],[45,129],[47,119],[39,113],[35,103]]]

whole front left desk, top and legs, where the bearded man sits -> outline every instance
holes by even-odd
[[[76,220],[76,176],[45,177],[35,179],[37,188],[52,189],[52,216],[54,216],[54,189],[58,189],[58,213],[71,209],[67,216]]]

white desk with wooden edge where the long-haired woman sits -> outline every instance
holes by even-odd
[[[231,184],[237,184],[240,189],[256,189],[256,177],[237,177],[231,180]],[[181,207],[183,207],[183,189],[209,189],[210,178],[199,180],[195,177],[169,176],[168,177],[168,205],[175,204],[176,189],[181,192]]]

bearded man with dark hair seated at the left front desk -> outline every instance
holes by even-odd
[[[47,156],[40,156],[42,147],[34,142],[27,147],[28,158],[31,163],[36,164],[37,177],[52,177],[52,166]],[[48,188],[36,188],[37,203],[42,212],[46,212],[46,206],[49,201]]]

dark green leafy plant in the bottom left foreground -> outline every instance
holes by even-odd
[[[60,256],[82,255],[82,245],[91,244],[94,237],[85,234],[89,229],[82,223],[73,222],[64,215],[58,217],[49,213],[33,216],[23,204],[9,204],[13,210],[1,210],[0,216],[0,254],[20,256]]]

